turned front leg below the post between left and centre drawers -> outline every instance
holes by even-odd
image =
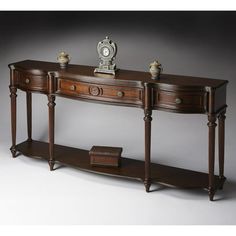
[[[55,160],[54,160],[54,116],[55,116],[55,96],[48,95],[48,111],[49,111],[49,166],[50,170],[53,170]]]

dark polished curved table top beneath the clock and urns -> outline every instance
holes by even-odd
[[[94,73],[95,67],[86,65],[69,64],[66,69],[61,69],[58,63],[25,60],[9,65],[12,69],[24,70],[35,75],[43,75],[48,72],[56,72],[59,75],[80,75],[84,77],[93,77],[101,79],[115,79],[120,81],[136,81],[141,83],[169,84],[177,86],[199,86],[217,88],[226,84],[227,80],[201,78],[183,75],[161,74],[158,80],[151,79],[149,72],[131,71],[119,69],[116,75]]]

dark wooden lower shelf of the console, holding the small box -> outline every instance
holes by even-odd
[[[28,157],[49,159],[49,145],[45,142],[25,141],[18,144],[16,149]],[[144,161],[122,157],[121,167],[119,168],[91,166],[88,151],[56,144],[54,146],[54,155],[57,162],[81,170],[144,181]],[[155,163],[151,163],[151,178],[152,182],[168,186],[208,188],[208,174],[206,173]],[[215,188],[217,189],[223,185],[223,181],[218,176],[215,176]]]

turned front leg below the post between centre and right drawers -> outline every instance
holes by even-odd
[[[151,156],[151,121],[152,121],[152,111],[145,110],[144,111],[144,122],[145,122],[145,179],[144,185],[146,188],[146,192],[149,192],[149,188],[151,186],[151,178],[150,178],[150,156]]]

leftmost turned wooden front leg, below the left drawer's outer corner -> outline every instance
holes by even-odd
[[[17,88],[10,86],[10,97],[11,97],[11,135],[12,135],[12,146],[10,148],[12,157],[16,157],[16,97]]]

